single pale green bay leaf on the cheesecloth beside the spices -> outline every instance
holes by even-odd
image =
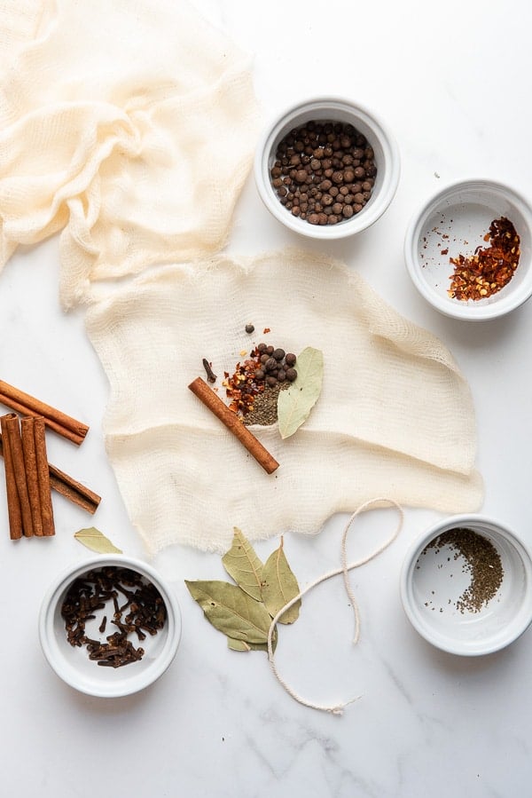
[[[297,357],[297,379],[278,395],[278,424],[282,439],[290,438],[304,423],[321,393],[324,353],[307,346]]]

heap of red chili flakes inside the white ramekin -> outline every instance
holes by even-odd
[[[512,280],[520,259],[520,237],[506,217],[494,219],[484,236],[489,247],[477,247],[474,255],[450,257],[449,296],[453,299],[485,299]]]

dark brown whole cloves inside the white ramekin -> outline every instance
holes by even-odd
[[[119,603],[119,596],[125,602]],[[98,620],[96,612],[113,609],[111,624],[116,628],[106,641],[93,639],[86,633],[89,620]],[[127,613],[124,616],[124,613]],[[129,568],[113,565],[91,570],[74,580],[61,605],[69,644],[85,646],[89,659],[106,668],[121,668],[141,660],[145,650],[131,642],[135,634],[139,641],[154,636],[166,622],[166,606],[152,582]],[[99,621],[98,631],[104,634],[107,614]]]

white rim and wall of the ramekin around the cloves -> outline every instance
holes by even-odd
[[[142,673],[137,673],[134,678],[117,679],[115,685],[103,684],[101,688],[95,685],[89,687],[78,682],[75,678],[74,669],[66,667],[56,656],[55,646],[52,644],[54,614],[56,612],[59,597],[63,594],[69,584],[74,579],[87,573],[93,568],[103,568],[106,565],[117,565],[127,567],[153,582],[154,586],[160,591],[160,595],[167,609],[167,640],[162,651],[157,655],[150,668]],[[131,695],[134,692],[144,690],[149,684],[155,682],[168,669],[174,660],[177,646],[181,638],[181,611],[177,603],[174,591],[169,588],[152,565],[145,563],[137,557],[129,557],[124,554],[97,554],[84,559],[76,565],[70,565],[59,573],[51,582],[46,591],[38,619],[39,640],[43,649],[43,654],[52,670],[55,671],[64,682],[74,687],[75,690],[86,693],[87,695],[98,698],[119,698]]]

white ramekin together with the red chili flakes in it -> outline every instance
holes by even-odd
[[[453,183],[412,217],[404,258],[415,288],[446,316],[503,316],[532,296],[532,207],[500,182]]]

